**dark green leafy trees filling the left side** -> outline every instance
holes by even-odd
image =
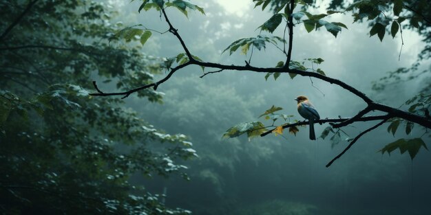
[[[196,157],[185,135],[158,131],[118,98],[89,95],[151,82],[160,60],[110,44],[122,24],[105,2],[0,1],[0,212],[188,214],[129,183],[168,177]],[[7,11],[7,12],[6,12]],[[139,97],[161,102],[162,93]]]

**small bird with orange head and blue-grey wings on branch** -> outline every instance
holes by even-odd
[[[315,140],[316,134],[314,132],[314,122],[315,120],[319,120],[320,116],[317,113],[313,104],[308,101],[308,98],[304,95],[299,95],[295,100],[298,102],[297,109],[299,115],[304,117],[310,123],[310,139]]]

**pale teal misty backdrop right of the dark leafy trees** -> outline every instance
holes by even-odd
[[[185,18],[175,10],[167,10],[192,54],[202,60],[226,65],[244,65],[249,55],[222,54],[238,38],[256,36],[269,12],[253,10],[251,1],[192,1],[201,5],[206,16],[190,12]],[[122,16],[125,23],[142,23],[164,32],[167,25],[158,12],[141,12],[138,2],[123,5],[129,11]],[[322,10],[322,9],[317,9]],[[319,65],[327,76],[342,80],[363,91],[372,99],[400,106],[417,91],[417,80],[386,91],[372,91],[372,81],[399,67],[410,67],[423,44],[415,32],[404,32],[405,45],[399,60],[401,38],[386,35],[383,42],[370,37],[364,23],[353,23],[349,14],[335,15],[328,21],[343,22],[335,38],[325,30],[307,33],[302,25],[294,30],[293,60],[323,58]],[[264,32],[264,34],[268,34]],[[274,33],[282,36],[282,29]],[[171,34],[154,34],[143,47],[152,56],[169,57],[183,52]],[[255,52],[251,65],[274,67],[284,60],[280,50],[268,46]],[[308,65],[310,67],[311,65]],[[205,71],[212,71],[206,69]],[[189,165],[191,182],[163,181],[148,183],[155,192],[168,188],[168,203],[191,208],[196,214],[253,214],[253,211],[282,208],[287,214],[426,214],[431,212],[430,152],[421,150],[414,161],[408,155],[392,152],[381,155],[377,150],[399,138],[412,138],[423,131],[415,129],[407,136],[403,129],[393,137],[387,126],[361,137],[330,168],[326,163],[346,146],[331,146],[328,138],[308,140],[308,128],[295,135],[268,135],[249,141],[245,137],[222,139],[229,127],[259,119],[272,105],[282,113],[294,115],[293,100],[307,95],[322,118],[350,117],[365,107],[352,93],[322,80],[282,75],[277,81],[250,71],[222,71],[204,78],[200,67],[182,69],[158,87],[165,93],[164,104],[130,99],[129,106],[156,127],[168,133],[184,133],[191,138],[200,157]],[[162,78],[164,75],[160,76]],[[268,123],[268,122],[266,122]],[[269,123],[271,124],[271,123]],[[355,137],[374,125],[357,123],[344,128]],[[328,125],[316,125],[317,136]],[[348,136],[343,136],[348,138]],[[429,143],[429,137],[425,138]],[[146,182],[145,182],[146,183]],[[181,197],[186,196],[186,197]],[[428,203],[427,203],[428,202]],[[211,208],[209,210],[208,208]],[[231,212],[227,210],[231,209]],[[224,211],[225,209],[226,211]],[[280,209],[281,210],[281,209]],[[235,213],[233,213],[235,212]],[[272,214],[277,214],[273,212]],[[280,213],[282,214],[282,213]]]

